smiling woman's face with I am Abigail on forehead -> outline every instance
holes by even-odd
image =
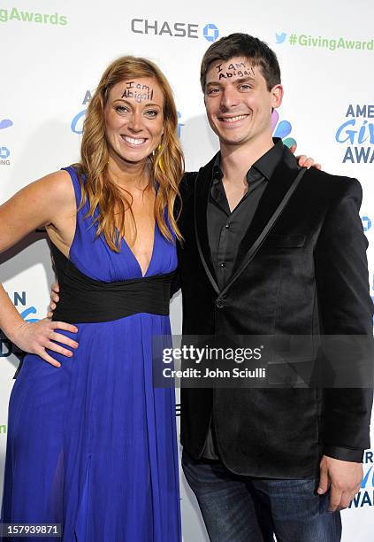
[[[143,162],[164,134],[164,94],[153,77],[135,77],[111,88],[104,109],[110,156]]]

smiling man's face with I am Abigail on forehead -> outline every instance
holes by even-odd
[[[268,90],[260,66],[250,58],[213,62],[207,73],[204,102],[208,120],[221,143],[243,145],[271,138],[271,109],[283,89]]]

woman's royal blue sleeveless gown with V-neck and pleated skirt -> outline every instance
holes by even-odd
[[[117,253],[95,238],[87,211],[77,214],[73,264],[104,282],[141,277],[125,241]],[[156,226],[146,276],[176,267],[175,244]],[[169,317],[76,323],[76,335],[58,331],[79,342],[72,359],[49,352],[55,368],[27,354],[14,382],[1,521],[62,523],[64,542],[179,542],[174,391],[152,386],[152,337],[171,334]]]

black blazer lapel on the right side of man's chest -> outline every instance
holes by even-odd
[[[276,211],[283,197],[285,197],[286,191],[290,188],[298,173],[298,169],[297,160],[287,147],[285,147],[283,158],[268,181],[268,186],[263,192],[263,197],[260,199],[247,233],[240,243],[233,273],[240,267],[241,261],[246,257],[249,249],[256,242],[257,237],[271,219],[272,214]]]

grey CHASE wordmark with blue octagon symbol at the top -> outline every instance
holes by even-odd
[[[167,20],[131,19],[131,31],[134,34],[169,35],[170,37],[203,37],[208,42],[218,39],[219,30],[213,23],[208,23],[200,30],[200,25],[189,22],[169,22]]]

